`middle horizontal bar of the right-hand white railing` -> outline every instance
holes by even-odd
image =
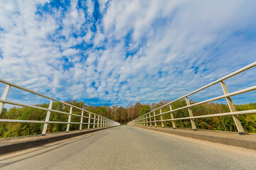
[[[193,106],[198,106],[198,105],[201,105],[201,104],[203,104],[203,103],[208,103],[208,102],[210,102],[210,101],[217,101],[217,100],[219,100],[219,99],[221,99],[221,98],[227,98],[227,97],[235,96],[235,95],[238,95],[238,94],[244,94],[244,93],[247,93],[247,92],[249,92],[249,91],[254,91],[254,90],[256,90],[256,86],[252,86],[252,87],[249,87],[249,88],[246,88],[246,89],[242,89],[242,90],[240,90],[240,91],[235,91],[235,92],[233,92],[233,93],[225,94],[225,95],[218,96],[218,97],[215,97],[215,98],[210,98],[210,99],[208,99],[208,100],[206,100],[206,101],[201,101],[201,102],[198,102],[198,103],[193,103],[193,104],[191,104],[191,105],[184,106],[184,107],[181,107],[181,108],[176,108],[176,109],[174,109],[174,110],[166,111],[166,112],[164,112],[164,113],[159,113],[159,114],[157,114],[157,115],[151,115],[151,116],[149,116],[148,118],[154,118],[154,117],[156,117],[156,116],[158,116],[158,115],[164,115],[164,114],[166,114],[166,113],[171,113],[171,112],[174,112],[174,111],[179,111],[179,110],[184,109],[184,108],[190,108],[190,107],[193,107]],[[146,114],[148,114],[148,113],[146,113]],[[145,114],[145,115],[146,115],[146,114]],[[142,120],[144,120],[144,119],[146,119],[146,118],[143,118]]]

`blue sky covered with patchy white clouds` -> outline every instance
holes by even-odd
[[[254,0],[1,0],[0,79],[96,106],[174,100],[256,61],[255,8]],[[228,90],[255,85],[255,72],[228,79]],[[222,94],[216,84],[191,99]],[[8,99],[48,102],[15,88]],[[234,100],[256,102],[255,93]]]

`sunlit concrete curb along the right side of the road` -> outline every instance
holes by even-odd
[[[165,129],[160,129],[160,128],[144,128],[144,127],[137,127],[136,128],[142,128],[142,129],[147,129],[147,130],[154,130],[158,132],[166,132],[174,135],[179,135],[183,137],[191,137],[197,140],[206,140],[209,142],[215,142],[215,143],[220,143],[224,145],[231,145],[234,147],[244,147],[247,149],[255,149],[256,150],[256,141],[247,141],[247,140],[234,140],[234,139],[229,139],[225,137],[215,137],[215,136],[210,136],[210,135],[198,135],[194,133],[188,133],[188,132],[175,132],[171,130],[165,130]]]

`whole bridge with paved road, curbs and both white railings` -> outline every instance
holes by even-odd
[[[139,116],[128,125],[0,79],[6,84],[0,99],[0,113],[5,103],[47,112],[45,120],[0,119],[0,123],[43,124],[41,135],[1,139],[0,169],[255,169],[256,135],[245,132],[239,115],[255,114],[256,110],[236,111],[231,96],[255,91],[256,86],[229,93],[224,82],[255,66],[256,62],[238,69]],[[191,103],[189,96],[214,84],[220,84],[222,96]],[[7,100],[11,87],[48,99],[48,108]],[[183,98],[186,106],[173,109],[173,103]],[[222,98],[226,99],[230,112],[194,115],[193,107]],[[69,112],[53,110],[53,102],[69,107]],[[78,109],[80,115],[73,113],[73,108]],[[176,111],[182,109],[188,110],[188,117],[176,115]],[[68,115],[68,121],[50,121],[51,113]],[[196,127],[197,119],[220,116],[232,116],[238,132]],[[73,117],[79,117],[80,122],[71,121]],[[192,128],[176,127],[178,120],[189,120]],[[46,133],[52,123],[66,124],[65,132]],[[171,123],[171,127],[165,123]],[[80,125],[79,129],[70,131],[70,124]],[[82,129],[82,125],[87,128]]]

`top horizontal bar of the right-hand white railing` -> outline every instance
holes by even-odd
[[[199,89],[196,89],[195,91],[192,91],[192,92],[189,93],[189,94],[186,94],[186,95],[184,95],[184,96],[181,96],[180,98],[177,98],[177,99],[174,100],[174,101],[171,101],[171,102],[169,102],[169,103],[166,103],[166,104],[164,104],[163,106],[160,106],[159,108],[155,108],[153,111],[150,111],[150,112],[148,112],[148,113],[152,113],[152,112],[154,112],[154,111],[156,111],[156,110],[159,110],[160,108],[163,108],[164,106],[168,106],[169,104],[174,103],[175,101],[179,101],[179,100],[181,100],[182,98],[185,98],[185,97],[187,97],[187,96],[191,96],[192,94],[195,94],[195,93],[198,92],[198,91],[201,91],[201,90],[203,90],[203,89],[206,89],[206,88],[208,88],[209,86],[213,86],[214,84],[217,84],[217,83],[219,83],[220,81],[223,81],[223,80],[225,80],[225,79],[228,79],[228,78],[230,78],[230,77],[233,77],[233,76],[235,76],[236,74],[239,74],[239,73],[241,73],[241,72],[244,72],[245,70],[250,69],[250,68],[255,67],[255,66],[256,66],[256,62],[252,62],[252,64],[249,64],[249,65],[247,65],[247,66],[245,66],[245,67],[242,67],[241,69],[238,69],[237,71],[232,72],[232,73],[228,74],[228,75],[225,76],[225,77],[222,77],[222,78],[220,78],[220,79],[218,79],[218,80],[216,80],[216,81],[211,82],[210,84],[207,84],[206,86],[203,86],[203,87],[201,87],[201,88],[199,88]],[[148,113],[146,113],[146,114],[148,114]],[[139,116],[138,118],[141,118],[142,116],[144,116],[144,115],[141,115],[141,116]],[[137,118],[137,119],[138,119],[138,118]]]

